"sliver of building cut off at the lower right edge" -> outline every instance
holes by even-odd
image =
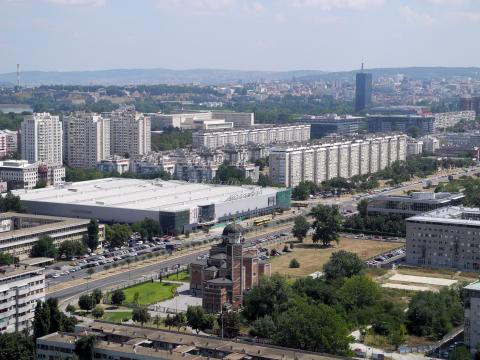
[[[474,355],[480,344],[480,281],[465,286],[463,296],[465,311],[463,340]]]

